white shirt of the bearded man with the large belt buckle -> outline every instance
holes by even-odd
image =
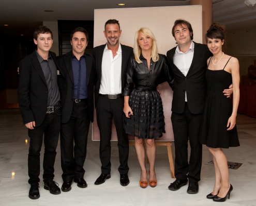
[[[122,93],[122,48],[120,43],[116,54],[113,58],[112,51],[108,49],[108,44],[106,44],[101,65],[100,94]]]

